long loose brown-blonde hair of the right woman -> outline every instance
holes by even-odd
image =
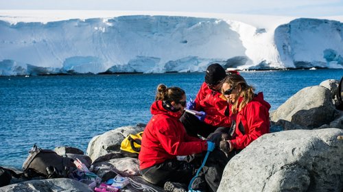
[[[243,100],[241,101],[241,104],[239,104],[238,106],[238,97],[235,99],[235,103],[233,104],[231,108],[231,112],[233,114],[237,113],[237,108],[238,108],[238,111],[244,108],[246,104],[248,104],[255,95],[254,93],[255,88],[252,86],[249,86],[246,83],[246,80],[244,80],[244,77],[236,73],[230,73],[229,75],[226,75],[226,77],[222,81],[222,84],[224,83],[230,84],[231,87],[241,85],[241,91],[237,95],[238,97],[243,97]],[[224,94],[223,89],[222,89],[222,93]]]

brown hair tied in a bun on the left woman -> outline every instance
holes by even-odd
[[[161,100],[161,101],[180,101],[182,99],[182,96],[185,95],[185,91],[182,90],[182,88],[171,86],[167,88],[164,84],[159,84],[157,86],[157,93],[155,100]]]

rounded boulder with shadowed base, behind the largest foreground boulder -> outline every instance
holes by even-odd
[[[298,91],[271,112],[270,119],[285,130],[314,129],[329,124],[337,116],[338,111],[333,105],[329,88],[310,86]]]

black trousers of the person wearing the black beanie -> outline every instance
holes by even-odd
[[[199,134],[206,138],[217,129],[217,127],[200,121],[195,115],[191,115],[188,112],[183,113],[180,121],[185,126],[189,136],[198,137]]]

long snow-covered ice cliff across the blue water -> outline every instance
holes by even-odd
[[[343,68],[340,21],[130,15],[36,22],[3,14],[0,75],[204,71],[212,62]]]

